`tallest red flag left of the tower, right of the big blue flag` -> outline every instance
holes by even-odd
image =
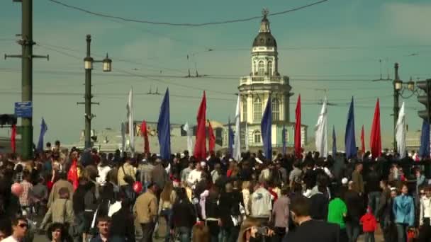
[[[206,159],[206,96],[203,91],[201,105],[198,110],[198,127],[196,129],[196,144],[194,144],[194,157],[198,161]]]

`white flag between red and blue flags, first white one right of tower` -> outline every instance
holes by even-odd
[[[318,123],[315,125],[315,149],[319,151],[321,157],[328,157],[328,113],[327,100],[323,100],[322,110],[318,118]]]

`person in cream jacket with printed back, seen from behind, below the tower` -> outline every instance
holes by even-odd
[[[259,188],[252,194],[252,215],[257,219],[270,219],[272,214],[271,193],[260,183]]]

